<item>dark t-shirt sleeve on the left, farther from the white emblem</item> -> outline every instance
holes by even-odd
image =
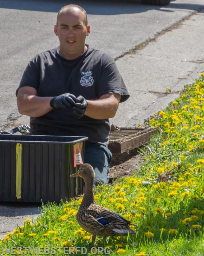
[[[38,91],[40,84],[40,68],[38,67],[37,56],[29,61],[27,67],[23,72],[19,87],[16,90],[16,96],[18,94],[19,88],[24,86],[30,86]]]

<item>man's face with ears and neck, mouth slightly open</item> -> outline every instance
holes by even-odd
[[[90,33],[90,26],[85,25],[85,14],[81,10],[74,12],[63,10],[59,13],[54,31],[60,42],[60,55],[73,60],[85,50],[85,39]]]

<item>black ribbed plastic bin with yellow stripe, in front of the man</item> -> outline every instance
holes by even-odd
[[[82,179],[70,175],[79,169],[75,149],[83,161],[87,139],[1,134],[0,201],[58,203],[82,193]]]

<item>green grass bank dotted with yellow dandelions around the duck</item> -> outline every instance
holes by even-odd
[[[105,255],[91,250],[110,247],[111,255],[204,255],[203,101],[200,74],[168,108],[146,120],[145,126],[159,131],[140,149],[145,161],[135,167],[137,173],[94,190],[98,204],[136,225],[136,235],[97,237],[93,244],[76,221],[81,196],[59,205],[43,204],[38,219],[25,220],[0,241],[0,248],[85,247],[83,255]]]

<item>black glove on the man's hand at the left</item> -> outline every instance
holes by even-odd
[[[53,97],[49,105],[52,108],[73,108],[77,98],[71,93],[64,93],[59,96]]]

